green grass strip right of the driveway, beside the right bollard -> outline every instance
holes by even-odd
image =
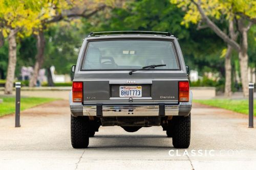
[[[195,103],[220,107],[227,110],[232,110],[238,113],[248,114],[248,100],[230,100],[230,99],[210,99],[210,100],[193,100]],[[253,104],[254,116],[256,116],[256,102]]]

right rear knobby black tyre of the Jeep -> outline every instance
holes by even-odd
[[[174,116],[173,145],[174,148],[188,148],[190,144],[190,114],[188,116]]]

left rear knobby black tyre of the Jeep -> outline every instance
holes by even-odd
[[[73,148],[87,148],[89,144],[89,118],[71,115],[71,144]]]

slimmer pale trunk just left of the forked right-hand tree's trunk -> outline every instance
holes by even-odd
[[[231,92],[231,52],[232,47],[230,45],[227,46],[227,53],[225,56],[225,96],[230,97]]]

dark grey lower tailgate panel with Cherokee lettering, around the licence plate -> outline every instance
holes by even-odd
[[[117,80],[118,81],[118,80]],[[144,84],[145,81],[136,84],[110,84],[108,80],[89,80],[83,82],[83,101],[95,103],[108,103],[116,101],[127,102],[125,98],[119,98],[119,86],[142,86],[142,98],[134,98],[133,103],[145,102],[176,102],[178,103],[178,80],[155,79],[152,84]],[[136,81],[137,82],[137,81]]]

